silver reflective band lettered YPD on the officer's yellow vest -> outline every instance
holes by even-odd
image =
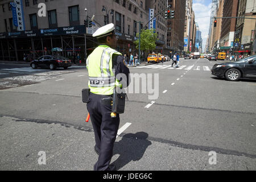
[[[115,77],[89,77],[90,86],[92,87],[108,87],[115,86]]]

